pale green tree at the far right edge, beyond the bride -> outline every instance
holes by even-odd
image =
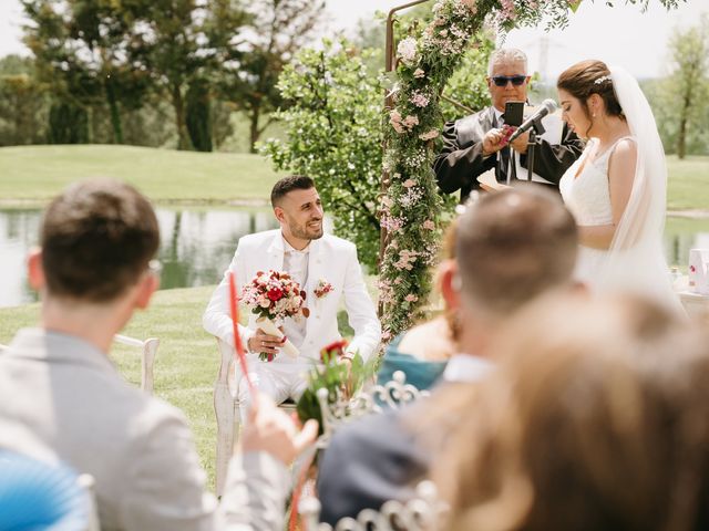
[[[670,73],[658,86],[658,122],[664,139],[670,138],[679,158],[706,128],[709,108],[709,15],[686,31],[676,29],[669,40]],[[669,131],[668,131],[669,129]]]

